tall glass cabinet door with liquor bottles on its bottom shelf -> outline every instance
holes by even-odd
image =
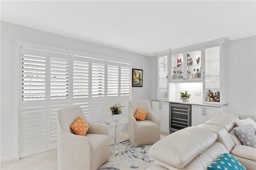
[[[205,49],[205,100],[204,103],[220,104],[220,53],[221,46]]]

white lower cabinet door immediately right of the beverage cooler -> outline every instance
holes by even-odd
[[[204,123],[204,107],[191,106],[191,126],[197,126]]]

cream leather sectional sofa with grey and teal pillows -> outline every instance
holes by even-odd
[[[236,119],[248,116],[222,114],[198,127],[187,127],[164,137],[150,148],[155,165],[148,169],[205,170],[222,154],[230,153],[247,170],[255,170],[256,148],[242,145],[232,131]],[[250,117],[255,121],[256,116]]]

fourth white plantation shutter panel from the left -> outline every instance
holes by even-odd
[[[90,120],[104,124],[105,104],[105,61],[92,60],[92,98]]]

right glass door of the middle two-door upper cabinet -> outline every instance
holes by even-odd
[[[187,77],[188,80],[202,80],[202,66],[201,66],[201,50],[186,51],[186,65],[187,65]]]

